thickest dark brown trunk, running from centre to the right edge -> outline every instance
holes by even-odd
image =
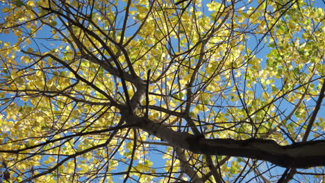
[[[281,146],[269,139],[204,139],[188,132],[175,132],[148,119],[128,116],[126,122],[167,141],[172,146],[205,155],[226,155],[265,160],[277,166],[308,168],[325,166],[325,140]]]

